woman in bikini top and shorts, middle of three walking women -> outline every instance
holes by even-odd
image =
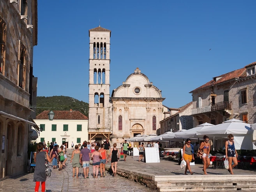
[[[200,144],[199,149],[203,150],[203,174],[207,174],[206,173],[206,169],[210,166],[210,158],[209,158],[209,153],[210,153],[210,143],[209,143],[209,137],[208,136],[203,136],[203,139],[205,139],[205,141],[203,141]]]

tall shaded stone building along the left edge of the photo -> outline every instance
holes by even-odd
[[[37,0],[1,0],[0,180],[26,170],[35,45]]]

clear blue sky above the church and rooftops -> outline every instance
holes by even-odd
[[[256,61],[255,0],[39,0],[38,96],[88,102],[88,30],[111,30],[110,93],[136,67],[180,107],[214,76]],[[209,49],[211,49],[209,51]]]

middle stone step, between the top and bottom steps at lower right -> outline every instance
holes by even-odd
[[[226,185],[226,186],[240,186],[240,185],[250,185],[250,186],[256,186],[255,180],[243,180],[243,181],[235,181],[235,180],[205,180],[198,182],[197,180],[194,181],[186,181],[185,178],[182,181],[157,181],[157,187],[184,187],[184,186],[220,186],[220,185]]]

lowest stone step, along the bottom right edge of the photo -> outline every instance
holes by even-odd
[[[256,190],[256,185],[208,185],[208,186],[185,186],[185,187],[161,187],[158,188],[160,192],[183,192],[183,191],[230,191],[230,190]]]

